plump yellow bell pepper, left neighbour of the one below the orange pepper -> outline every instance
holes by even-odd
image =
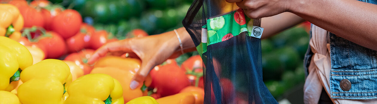
[[[66,63],[58,59],[44,59],[25,68],[23,84],[18,86],[18,98],[23,104],[63,104],[63,94],[72,82]]]

